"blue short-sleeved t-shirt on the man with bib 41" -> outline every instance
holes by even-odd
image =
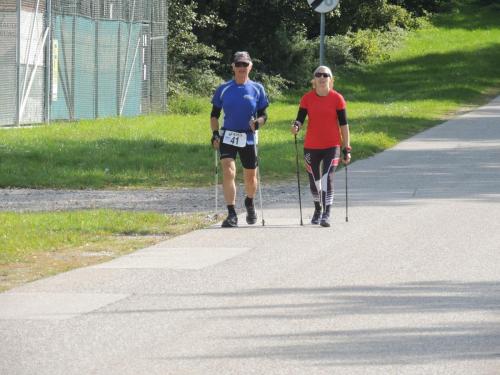
[[[253,144],[250,119],[269,105],[264,86],[252,80],[239,85],[233,79],[215,90],[212,104],[224,111],[222,129],[246,132],[247,144]]]

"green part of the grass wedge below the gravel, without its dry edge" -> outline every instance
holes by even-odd
[[[168,236],[206,225],[202,215],[85,210],[0,212],[0,264],[22,261],[26,254],[89,245],[115,236]]]

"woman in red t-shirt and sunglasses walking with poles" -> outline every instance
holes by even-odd
[[[313,89],[300,100],[297,118],[291,128],[292,134],[297,134],[308,117],[304,160],[315,206],[311,224],[323,227],[330,226],[333,179],[340,159],[341,145],[343,162],[348,164],[351,160],[346,103],[343,96],[333,89],[333,81],[330,68],[316,68],[312,80]]]

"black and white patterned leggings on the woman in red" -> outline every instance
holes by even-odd
[[[321,202],[323,208],[331,206],[334,195],[333,177],[339,165],[340,146],[325,149],[304,148],[304,160],[309,173],[313,201]]]

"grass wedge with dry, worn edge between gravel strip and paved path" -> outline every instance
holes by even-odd
[[[215,221],[202,214],[0,212],[0,291],[87,266]]]

